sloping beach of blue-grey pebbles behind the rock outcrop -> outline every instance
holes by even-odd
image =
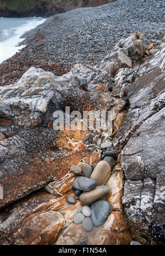
[[[164,0],[119,0],[58,14],[27,34],[27,46],[0,65],[0,85],[13,83],[31,66],[61,75],[75,63],[95,65],[114,44],[141,31],[157,38],[164,27]]]

